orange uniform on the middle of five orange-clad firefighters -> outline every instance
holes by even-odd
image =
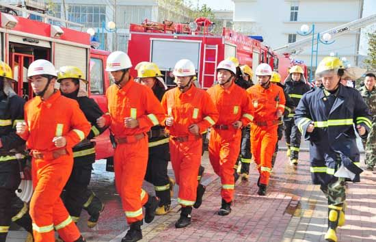
[[[178,203],[193,206],[198,185],[197,174],[201,163],[202,136],[189,132],[191,124],[206,131],[218,120],[218,111],[209,94],[191,85],[187,92],[174,88],[165,93],[162,106],[167,116],[174,118],[170,133],[170,154],[176,183],[179,185]]]

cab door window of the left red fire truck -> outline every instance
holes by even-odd
[[[90,94],[104,94],[102,59],[90,59]]]

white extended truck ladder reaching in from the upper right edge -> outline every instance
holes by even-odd
[[[320,36],[323,36],[324,33],[330,33],[332,38],[342,36],[345,33],[349,33],[350,31],[354,31],[360,29],[362,27],[366,27],[376,23],[376,14],[372,14],[370,16],[366,16],[364,18],[359,18],[355,21],[346,23],[345,25],[340,25],[338,27],[334,27],[332,29],[327,29],[320,33]],[[317,36],[314,38],[314,44],[317,44]],[[297,42],[293,42],[291,44],[286,44],[284,46],[280,46],[273,51],[277,51],[278,53],[299,53],[304,50],[304,48],[312,45],[312,37],[307,37]]]

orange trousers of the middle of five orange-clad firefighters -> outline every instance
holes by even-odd
[[[202,139],[181,143],[170,139],[171,163],[179,185],[178,203],[182,206],[193,206],[196,202],[201,149]]]

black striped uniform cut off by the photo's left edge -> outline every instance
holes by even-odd
[[[25,141],[16,135],[16,122],[24,121],[24,105],[23,98],[16,95],[8,97],[0,91],[0,139],[3,144],[0,148],[0,242],[5,242],[11,221],[32,233],[27,211],[24,216],[13,217],[23,207],[14,206],[16,202],[23,204],[14,192],[21,182],[20,163],[25,163],[25,156],[20,163],[15,156],[25,148]]]

